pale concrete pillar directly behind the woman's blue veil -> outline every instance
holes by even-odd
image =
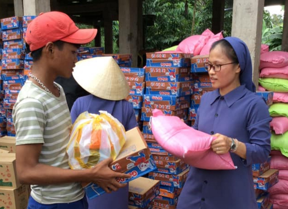
[[[264,0],[234,0],[232,36],[242,39],[248,46],[253,67],[253,82],[258,88],[261,34]]]

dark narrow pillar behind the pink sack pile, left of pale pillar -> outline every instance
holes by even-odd
[[[213,0],[212,32],[219,33],[224,30],[225,0]]]

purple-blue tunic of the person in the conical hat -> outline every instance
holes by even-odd
[[[136,116],[132,104],[126,100],[111,101],[98,98],[93,95],[78,98],[71,109],[72,122],[77,117],[88,111],[98,114],[99,110],[104,110],[117,118],[124,126],[125,130],[130,130],[137,126]],[[128,208],[128,185],[116,192],[105,193],[92,200],[88,199],[89,209],[127,209]]]

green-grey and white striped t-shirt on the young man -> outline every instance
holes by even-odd
[[[60,97],[27,80],[13,109],[16,145],[42,143],[39,163],[69,169],[66,147],[72,127],[64,91]],[[31,196],[39,203],[74,202],[84,197],[79,183],[31,185]]]

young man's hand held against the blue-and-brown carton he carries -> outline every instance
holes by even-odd
[[[130,178],[128,174],[115,172],[109,168],[113,160],[111,158],[105,159],[98,163],[92,171],[92,182],[102,187],[107,193],[117,191],[119,188],[125,187],[126,184],[119,183],[116,178]]]

